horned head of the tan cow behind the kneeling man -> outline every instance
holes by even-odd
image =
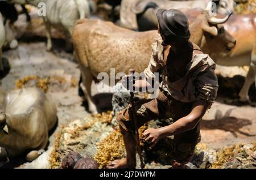
[[[191,40],[212,58],[228,54],[236,45],[235,38],[221,26],[229,19],[230,15],[225,18],[216,18],[210,16],[208,11],[204,11],[190,25],[189,29],[193,35]]]

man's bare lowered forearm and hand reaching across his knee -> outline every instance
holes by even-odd
[[[192,130],[196,127],[197,123],[199,123],[200,119],[204,116],[210,105],[211,103],[205,100],[197,100],[193,104],[191,113],[189,113],[187,116],[180,118],[169,126],[160,127],[157,129],[150,128],[144,131],[142,138],[151,143],[152,147],[161,138]]]

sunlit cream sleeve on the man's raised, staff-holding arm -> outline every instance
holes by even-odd
[[[150,57],[150,63],[147,68],[144,70],[144,75],[148,79],[154,79],[155,72],[162,67],[159,63],[159,59],[161,58],[163,52],[163,46],[160,39],[156,39],[155,42],[151,45],[152,46],[152,54]]]

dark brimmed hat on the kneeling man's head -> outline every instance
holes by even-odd
[[[168,39],[187,41],[190,37],[188,19],[183,12],[175,9],[164,10],[160,8],[156,12],[162,35]]]

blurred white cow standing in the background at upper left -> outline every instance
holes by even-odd
[[[69,38],[72,36],[77,20],[90,16],[87,0],[9,0],[9,2],[29,4],[39,8],[44,8],[42,5],[46,5],[46,16],[42,18],[46,24],[46,50],[48,51],[52,49],[51,27],[65,32],[66,48],[70,49]]]

